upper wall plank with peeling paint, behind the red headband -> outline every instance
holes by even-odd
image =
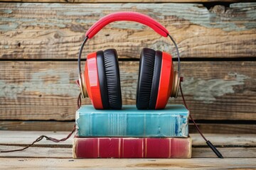
[[[202,4],[0,4],[1,59],[75,59],[85,31],[114,11],[138,11],[174,35],[181,57],[255,57],[256,3]],[[112,23],[88,42],[86,52],[109,47],[138,58],[142,47],[175,54],[174,46],[139,23]]]

